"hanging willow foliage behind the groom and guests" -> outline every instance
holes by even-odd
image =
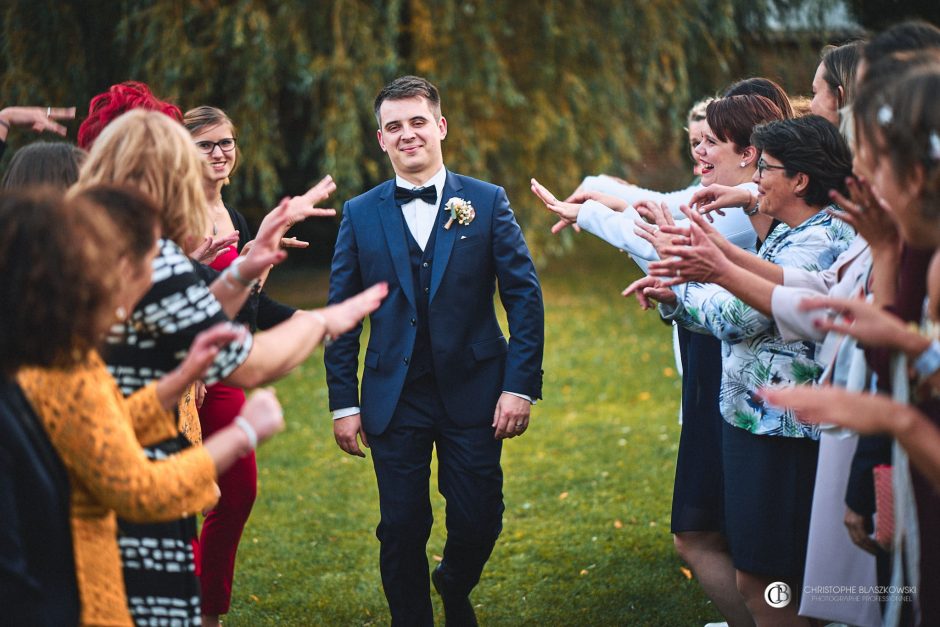
[[[90,98],[123,80],[184,110],[222,107],[244,155],[226,196],[257,217],[325,173],[337,205],[387,178],[372,100],[391,78],[418,73],[443,94],[448,166],[503,184],[537,233],[530,244],[559,247],[536,228],[549,217],[529,199],[531,176],[558,193],[601,171],[684,182],[688,106],[757,72],[808,92],[827,36],[781,38],[764,25],[827,4],[6,0],[0,95],[76,105],[72,137]],[[314,240],[335,235],[335,224],[307,228],[322,230],[304,234]]]

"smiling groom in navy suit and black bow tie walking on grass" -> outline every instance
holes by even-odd
[[[389,294],[371,316],[361,398],[361,326],[326,350],[333,432],[351,455],[365,456],[358,439],[372,451],[382,585],[396,626],[434,623],[426,546],[436,447],[447,543],[432,578],[447,624],[475,625],[470,591],[502,529],[502,440],[525,432],[541,398],[541,288],[503,189],[444,168],[437,88],[395,79],[375,116],[395,179],[343,208],[330,302],[378,281]]]

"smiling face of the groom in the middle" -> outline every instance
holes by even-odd
[[[447,120],[435,116],[426,98],[386,100],[379,107],[379,123],[379,146],[398,176],[420,185],[444,165]]]

